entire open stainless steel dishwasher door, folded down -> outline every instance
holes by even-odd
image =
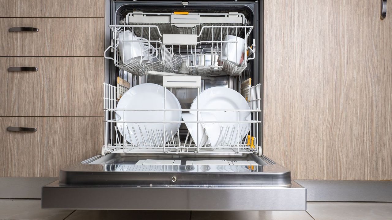
[[[173,164],[138,164],[145,160]],[[222,160],[250,164],[186,165],[189,161]],[[42,188],[42,207],[305,210],[306,189],[290,179],[289,170],[255,154],[195,157],[110,153],[62,169],[60,180]]]

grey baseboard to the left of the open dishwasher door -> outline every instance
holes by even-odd
[[[0,177],[0,198],[41,198],[42,186],[58,177]]]

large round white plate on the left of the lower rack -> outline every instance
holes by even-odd
[[[153,83],[143,83],[125,92],[117,104],[120,109],[163,109],[165,88]],[[176,96],[166,89],[165,109],[181,109]],[[163,121],[163,111],[116,111],[117,121]],[[167,111],[165,121],[181,121],[181,111]],[[162,145],[163,123],[120,123],[116,126],[131,144]],[[129,129],[127,129],[129,128]],[[166,123],[166,141],[180,128],[180,123]],[[140,130],[142,132],[140,132]],[[124,132],[125,131],[125,132]]]

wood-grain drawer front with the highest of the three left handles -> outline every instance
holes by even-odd
[[[0,56],[103,56],[104,28],[104,18],[0,18]]]

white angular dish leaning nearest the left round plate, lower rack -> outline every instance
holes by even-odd
[[[197,121],[196,115],[194,114],[183,113],[181,114],[181,117],[183,121]],[[199,121],[201,121],[201,118],[199,118]],[[189,133],[191,133],[192,139],[196,143],[196,146],[200,146],[200,147],[204,146],[208,138],[207,135],[205,134],[205,130],[203,126],[197,123],[185,123],[185,125],[187,126]],[[189,141],[187,141],[187,143],[189,143]]]

